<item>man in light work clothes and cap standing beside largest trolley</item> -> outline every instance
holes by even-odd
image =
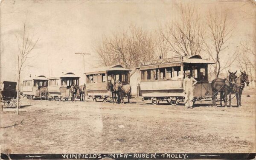
[[[183,90],[185,93],[185,107],[193,108],[193,89],[194,85],[197,83],[193,77],[191,77],[191,73],[185,73],[187,77],[183,80]]]

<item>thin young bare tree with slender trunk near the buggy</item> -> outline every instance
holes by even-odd
[[[29,59],[29,54],[31,53],[31,51],[35,48],[35,45],[38,42],[38,39],[33,40],[33,36],[32,38],[29,37],[29,35],[26,35],[26,24],[24,23],[24,27],[23,27],[23,36],[21,37],[21,42],[19,42],[19,39],[16,36],[17,39],[17,46],[19,49],[19,54],[18,54],[18,90],[17,90],[17,114],[19,114],[19,89],[20,89],[20,73],[23,70],[24,67],[26,67],[26,62],[27,59]],[[21,43],[21,44],[20,44]]]

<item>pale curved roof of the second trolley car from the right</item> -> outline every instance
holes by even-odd
[[[90,70],[90,72],[84,73],[84,74],[97,74],[97,73],[106,73],[106,71],[115,71],[115,70],[120,70],[120,71],[131,71],[129,69],[124,68],[122,65],[111,65],[111,66],[106,66],[106,67],[98,67]]]

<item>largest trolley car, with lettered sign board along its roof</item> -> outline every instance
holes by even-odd
[[[208,65],[214,64],[201,56],[177,56],[140,63],[141,82],[140,96],[151,100],[152,104],[166,101],[177,105],[185,99],[183,79],[187,72],[192,73],[198,83],[194,88],[194,100],[209,99],[212,95],[211,84],[208,81]]]

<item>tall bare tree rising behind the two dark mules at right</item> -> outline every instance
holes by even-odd
[[[230,21],[227,19],[227,11],[217,11],[217,9],[214,11],[209,10],[207,22],[210,42],[209,44],[205,43],[204,51],[215,62],[214,73],[216,78],[218,78],[220,72],[230,67],[238,57],[238,52],[236,51],[232,55],[229,55],[231,58],[229,61],[225,61],[225,64],[221,65],[221,55],[227,55],[224,50],[228,47],[227,41],[232,36],[233,26],[231,26]]]

